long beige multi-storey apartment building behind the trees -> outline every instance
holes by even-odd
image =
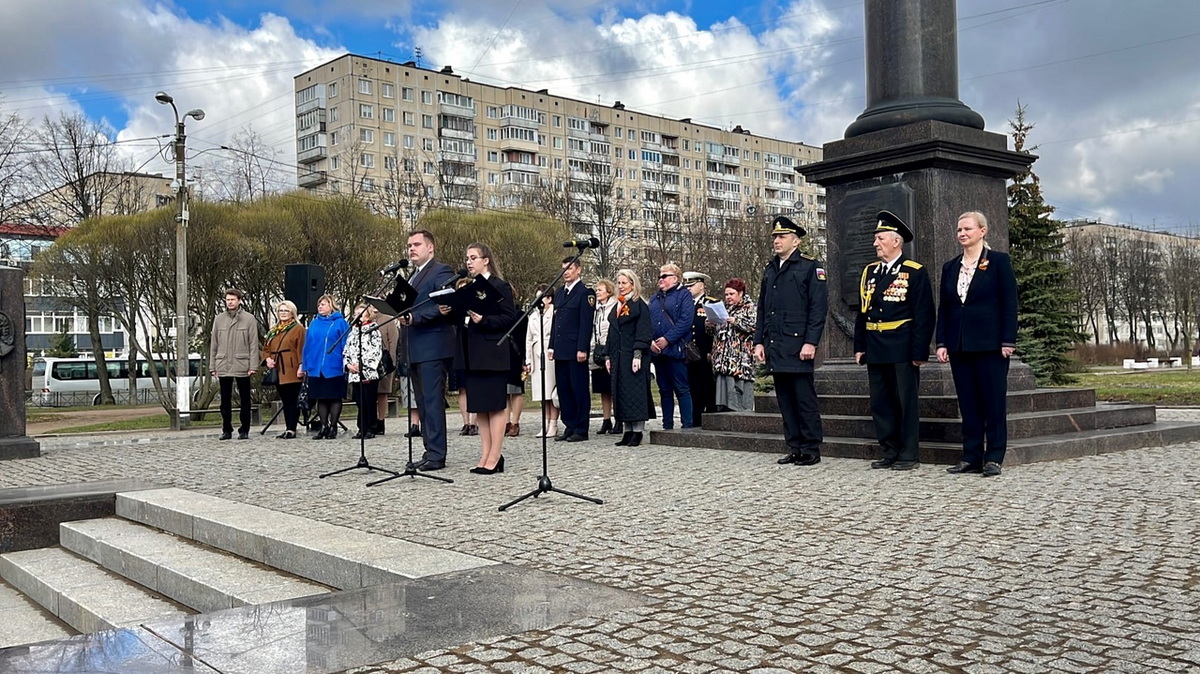
[[[434,206],[569,209],[623,240],[664,221],[793,213],[823,229],[821,149],[347,54],[295,77],[298,182],[414,222]]]

